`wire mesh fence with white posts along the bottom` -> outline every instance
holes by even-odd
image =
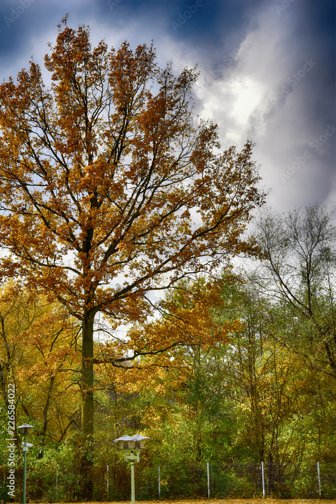
[[[8,501],[8,469],[0,468],[0,500]],[[300,466],[279,464],[136,464],[136,499],[180,497],[301,497],[336,498],[336,464]],[[22,497],[22,468],[15,470],[15,500]],[[69,502],[85,498],[86,482],[94,482],[94,500],[130,499],[130,471],[126,463],[55,471],[27,470],[27,498]]]

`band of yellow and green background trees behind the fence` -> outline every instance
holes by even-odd
[[[79,369],[71,348],[72,342],[76,347],[76,332],[64,325],[59,317],[64,310],[56,303],[45,305],[22,295],[10,303],[11,291],[5,292],[0,312],[7,341],[15,344],[11,362],[17,421],[36,426],[30,455],[33,478],[39,475],[45,488],[52,487],[53,468],[58,481],[65,471],[68,483],[78,481],[83,447],[76,432],[79,393],[74,376]],[[94,376],[95,464],[110,465],[112,486],[114,481],[118,488],[127,473],[121,454],[111,448],[112,439],[139,431],[151,437],[139,470],[146,477],[154,471],[155,479],[157,465],[167,466],[167,460],[167,474],[180,475],[190,461],[264,460],[268,485],[273,482],[276,492],[291,467],[304,474],[312,460],[335,460],[333,374],[317,345],[302,348],[310,323],[297,317],[290,304],[261,295],[253,282],[242,284],[230,274],[216,283],[184,279],[161,307],[161,319],[135,327],[129,335],[136,339],[142,330],[151,339],[172,332],[183,341],[180,346],[116,363],[106,359],[110,342],[95,341],[95,359],[101,359]],[[7,362],[6,345],[0,349]],[[1,400],[0,415],[5,425]],[[6,443],[6,431],[0,432],[4,463]],[[34,495],[42,498],[41,480],[35,480]]]

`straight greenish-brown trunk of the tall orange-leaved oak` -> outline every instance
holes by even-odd
[[[82,435],[84,451],[81,461],[83,490],[82,498],[93,498],[93,322],[94,316],[87,313],[82,329]]]

